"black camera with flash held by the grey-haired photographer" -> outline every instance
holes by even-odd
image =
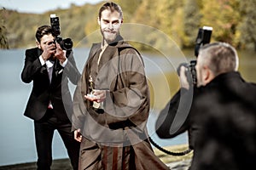
[[[201,46],[207,44],[210,42],[212,36],[212,27],[210,26],[203,26],[199,29],[197,37],[195,39],[195,57],[197,58],[199,54],[199,49]],[[182,63],[177,68],[177,73],[179,74],[179,70],[181,66],[185,66],[189,72],[186,72],[186,77],[188,78],[189,82],[192,82],[193,85],[196,85],[197,78],[196,78],[196,71],[195,71],[195,65],[196,60],[190,60],[189,63]]]

